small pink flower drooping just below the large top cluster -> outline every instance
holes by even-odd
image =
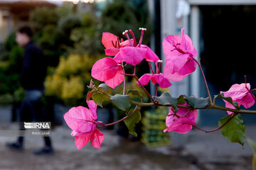
[[[139,78],[139,82],[142,84],[142,85],[146,85],[146,84],[149,84],[149,80],[152,81],[153,84],[159,84],[159,86],[162,88],[162,89],[165,89],[169,86],[171,86],[171,83],[169,81],[169,79],[166,79],[164,77],[164,74],[144,74],[141,78]],[[137,81],[137,85],[139,86],[139,82]]]

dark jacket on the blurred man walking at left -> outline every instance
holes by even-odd
[[[42,50],[31,41],[24,47],[21,86],[24,89],[43,89],[46,59]]]

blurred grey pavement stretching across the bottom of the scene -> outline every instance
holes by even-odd
[[[2,125],[3,126],[3,125]],[[17,124],[4,125],[15,128]],[[247,127],[247,135],[253,140],[255,128]],[[21,152],[6,148],[6,142],[15,137],[0,137],[0,170],[2,169],[223,169],[249,170],[252,151],[246,144],[244,149],[238,144],[228,142],[220,132],[206,134],[193,130],[179,136],[183,149],[173,146],[147,148],[140,142],[120,138],[114,130],[103,130],[105,140],[102,149],[87,144],[77,150],[70,129],[58,126],[51,132],[54,155],[33,155],[33,151],[43,146],[41,137],[26,137],[25,149]],[[176,142],[176,140],[173,140]]]

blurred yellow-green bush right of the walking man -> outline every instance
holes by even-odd
[[[46,96],[56,96],[70,106],[85,102],[90,69],[95,60],[89,55],[60,57],[58,67],[50,68],[51,73],[46,77]]]

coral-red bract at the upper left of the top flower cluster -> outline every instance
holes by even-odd
[[[133,40],[132,40],[133,42]],[[115,56],[119,52],[119,48],[130,46],[129,40],[124,41],[121,39],[121,42],[119,41],[119,38],[117,35],[114,35],[112,33],[102,33],[102,44],[104,45],[105,54],[109,56]]]

